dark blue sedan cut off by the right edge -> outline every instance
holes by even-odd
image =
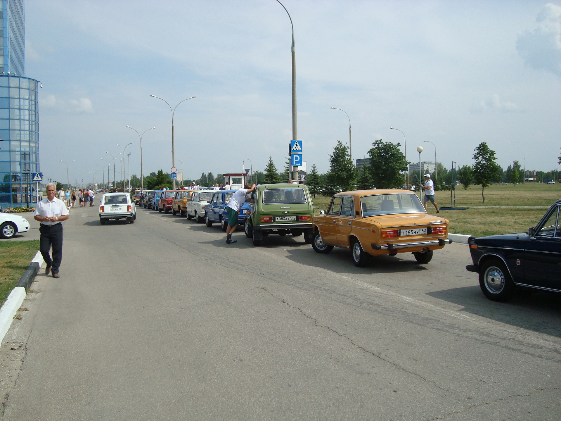
[[[518,234],[470,237],[473,264],[483,294],[507,301],[516,287],[561,292],[561,200],[535,227]]]

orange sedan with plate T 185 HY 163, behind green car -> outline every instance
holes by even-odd
[[[356,266],[365,266],[370,256],[397,253],[412,253],[425,264],[434,250],[452,242],[448,220],[426,213],[417,195],[408,190],[343,191],[312,222],[314,250],[349,249]]]

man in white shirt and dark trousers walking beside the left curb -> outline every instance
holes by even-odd
[[[47,184],[47,199],[41,200],[33,217],[39,221],[41,226],[39,251],[43,255],[43,260],[47,264],[45,274],[53,271],[53,278],[59,278],[58,268],[62,262],[62,223],[68,219],[68,209],[65,203],[54,197],[57,186],[53,183]],[[53,258],[50,258],[50,247],[53,247]]]

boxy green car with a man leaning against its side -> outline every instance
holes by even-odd
[[[261,244],[269,234],[281,236],[304,234],[311,244],[314,231],[314,204],[304,184],[262,184],[251,193],[244,230],[253,245]]]

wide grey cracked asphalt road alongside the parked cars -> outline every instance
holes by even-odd
[[[487,300],[466,245],[356,268],[145,209],[64,236],[2,348],[2,419],[561,419],[559,295]]]

